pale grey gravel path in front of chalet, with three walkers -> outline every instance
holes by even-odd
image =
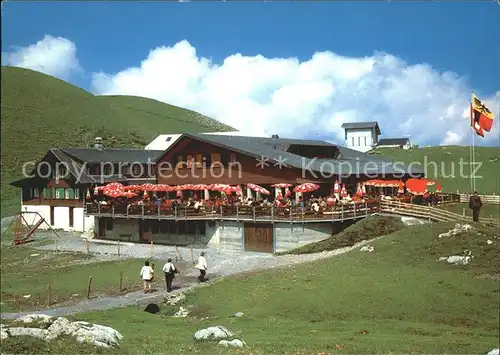
[[[68,235],[62,238],[63,241],[57,243],[57,248],[60,251],[84,251],[85,242],[81,237],[75,235]],[[378,239],[378,238],[377,238]],[[298,263],[311,262],[314,260],[325,259],[333,257],[336,255],[347,253],[353,249],[357,249],[362,245],[368,244],[371,241],[363,241],[355,244],[351,247],[340,248],[332,251],[321,252],[316,254],[304,254],[304,255],[282,255],[274,256],[272,254],[262,254],[262,253],[250,253],[250,252],[238,252],[224,249],[194,249],[193,254],[196,259],[201,251],[206,253],[206,258],[208,262],[208,273],[207,276],[214,280],[220,277],[230,276],[235,274],[241,274],[248,271],[271,269],[283,266],[294,265]],[[43,245],[37,247],[37,249],[42,250],[55,250],[56,246],[54,244]],[[133,244],[133,243],[120,243],[120,257],[118,257],[118,247],[114,242],[110,241],[100,241],[95,240],[90,243],[90,252],[97,256],[99,261],[106,260],[116,260],[123,258],[148,258],[150,254],[150,245],[145,244]],[[191,261],[191,250],[189,248],[179,247],[179,253],[184,261]],[[175,259],[176,250],[175,247],[155,245],[153,246],[153,258],[166,260],[167,258]],[[196,276],[198,271],[194,268],[192,270],[183,271],[184,276]],[[204,286],[208,286],[210,282],[205,283]],[[192,287],[197,286],[197,284],[186,284],[180,289],[174,290],[173,292],[185,292]],[[161,302],[164,297],[162,291],[156,292],[149,297],[144,297],[142,291],[131,292],[126,295],[114,296],[114,297],[99,297],[95,299],[86,300],[75,305],[56,307],[41,310],[39,312],[27,312],[27,313],[3,313],[1,318],[18,318],[25,314],[33,313],[43,313],[51,316],[63,316],[68,314],[75,314],[79,312],[91,311],[91,310],[104,310],[117,307],[125,307],[131,305],[137,305],[138,302],[148,303],[149,302]]]

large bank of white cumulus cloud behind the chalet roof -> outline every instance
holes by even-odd
[[[191,108],[249,134],[341,142],[343,122],[377,120],[385,137],[409,135],[419,144],[468,144],[470,137],[464,80],[386,53],[318,52],[303,62],[238,53],[216,65],[181,41],[152,50],[138,67],[94,74],[93,88]],[[498,132],[497,122],[481,142],[494,143]]]

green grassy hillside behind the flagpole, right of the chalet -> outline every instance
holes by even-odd
[[[410,150],[384,148],[375,150],[373,154],[406,164],[420,162],[422,168],[427,166],[426,176],[439,180],[444,192],[471,191],[470,165],[468,165],[470,147],[468,146],[440,146]],[[476,172],[476,190],[481,194],[500,193],[498,173],[500,171],[500,147],[476,147],[475,160],[476,163],[481,163]],[[432,162],[437,163],[437,169]],[[462,171],[466,176],[461,176],[460,162],[463,163]]]

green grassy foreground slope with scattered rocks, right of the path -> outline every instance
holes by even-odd
[[[78,319],[122,332],[122,348],[105,351],[115,354],[237,353],[193,342],[196,330],[216,324],[241,334],[250,346],[246,353],[255,355],[484,354],[498,347],[498,280],[485,275],[498,272],[500,239],[488,228],[482,235],[436,237],[451,227],[406,228],[374,242],[372,253],[353,251],[228,278],[188,295],[186,305],[194,305],[196,318],[153,316],[130,307]],[[488,239],[495,243],[488,245]],[[468,266],[437,261],[465,249],[475,256]],[[244,315],[233,318],[234,312]],[[2,352],[29,353],[31,347],[41,353],[65,346],[71,353],[88,350],[69,341],[31,340],[4,341]]]

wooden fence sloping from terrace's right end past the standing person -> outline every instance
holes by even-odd
[[[434,222],[472,222],[472,218],[470,216],[464,216],[458,213],[443,210],[441,208],[420,206],[397,201],[381,201],[380,212],[427,219]],[[499,219],[480,218],[479,221],[486,225],[500,227]]]

